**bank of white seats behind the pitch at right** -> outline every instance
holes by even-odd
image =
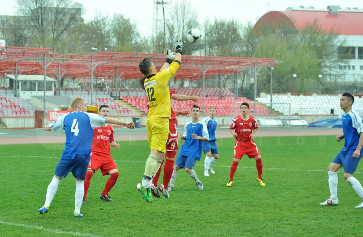
[[[284,115],[327,115],[337,114],[340,111],[339,100],[341,95],[291,95],[273,94],[272,108]],[[266,106],[270,106],[270,95],[266,97],[258,97],[257,101]],[[289,103],[291,111],[289,113]],[[363,108],[363,98],[354,97],[354,108]]]

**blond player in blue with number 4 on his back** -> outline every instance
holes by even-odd
[[[70,106],[74,112],[59,117],[56,121],[45,127],[46,131],[53,130],[59,132],[64,129],[66,142],[53,179],[48,186],[45,203],[37,211],[39,214],[48,212],[50,203],[57,192],[58,184],[62,178],[65,178],[69,172],[72,172],[74,178],[76,178],[74,217],[82,217],[83,183],[86,177],[88,163],[90,162],[93,129],[106,125],[105,123],[124,125],[130,129],[135,128],[133,122],[123,122],[115,118],[106,118],[94,113],[85,113],[87,111],[87,104],[81,97],[73,98]]]

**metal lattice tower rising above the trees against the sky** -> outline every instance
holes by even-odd
[[[158,32],[160,27],[164,29],[164,39],[166,37],[166,23],[171,21],[171,0],[154,0],[154,12],[152,19],[152,29],[154,34]]]

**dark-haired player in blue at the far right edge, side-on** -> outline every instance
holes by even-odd
[[[352,110],[354,96],[350,93],[344,93],[340,98],[340,108],[343,109],[342,128],[343,136],[337,136],[337,142],[345,140],[343,149],[335,156],[328,167],[330,198],[320,203],[321,206],[338,205],[338,176],[337,170],[341,167],[344,169],[344,179],[352,186],[353,190],[361,198],[361,202],[355,208],[363,208],[363,188],[359,181],[353,177],[363,151],[363,133],[362,118]]]

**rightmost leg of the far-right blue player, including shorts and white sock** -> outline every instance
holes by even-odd
[[[358,194],[361,199],[359,205],[355,206],[355,208],[363,208],[363,188],[362,184],[354,178],[353,173],[355,172],[358,163],[362,157],[354,158],[352,154],[347,154],[345,163],[344,163],[344,179],[352,186],[353,190]]]

